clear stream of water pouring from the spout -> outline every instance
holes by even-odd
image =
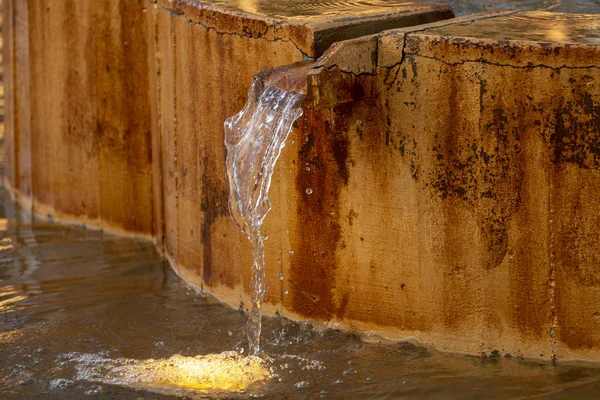
[[[304,78],[305,79],[305,78]],[[252,309],[247,335],[250,354],[260,351],[265,286],[264,240],[260,228],[271,209],[269,187],[275,163],[294,121],[302,115],[304,95],[265,85],[257,78],[242,111],[225,121],[229,210],[252,245]]]

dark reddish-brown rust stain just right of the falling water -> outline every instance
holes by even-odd
[[[342,110],[334,110],[344,115]],[[330,120],[329,111],[306,110],[299,129],[308,132],[308,141],[298,152],[300,169],[296,190],[300,194],[297,209],[298,238],[291,260],[292,309],[317,320],[329,320],[345,313],[338,309],[333,295],[337,257],[342,246],[339,194],[347,185],[348,133],[344,119]],[[312,189],[307,194],[307,189]],[[347,305],[347,302],[346,302]]]

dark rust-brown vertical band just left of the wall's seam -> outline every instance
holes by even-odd
[[[100,20],[114,21],[97,28],[101,217],[129,232],[152,233],[147,14],[141,0],[97,7]]]

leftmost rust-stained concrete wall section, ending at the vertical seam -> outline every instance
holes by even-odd
[[[145,2],[5,4],[15,197],[39,215],[151,236]]]

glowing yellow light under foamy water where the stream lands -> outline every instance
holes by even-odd
[[[138,361],[111,372],[122,384],[163,393],[239,392],[272,377],[265,361],[236,352],[197,357],[175,355],[164,360]]]

